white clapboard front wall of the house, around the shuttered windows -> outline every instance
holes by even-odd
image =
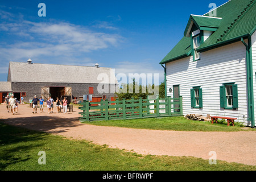
[[[173,85],[180,85],[184,115],[200,113],[204,116],[237,117],[239,122],[247,124],[246,50],[241,42],[202,52],[198,61],[193,61],[191,56],[167,63],[166,68],[167,90]],[[236,110],[220,107],[220,86],[227,82],[236,82],[238,85]],[[191,107],[190,90],[194,86],[203,89],[202,109]],[[167,96],[172,95],[167,92]]]

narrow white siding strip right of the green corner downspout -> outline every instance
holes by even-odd
[[[251,36],[251,49],[253,54],[254,113],[256,113],[256,32]]]

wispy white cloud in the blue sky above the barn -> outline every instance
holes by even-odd
[[[3,34],[16,36],[12,42],[0,42],[0,63],[6,61],[42,60],[51,57],[56,62],[63,60],[69,64],[85,61],[86,53],[117,47],[122,36],[93,31],[88,27],[67,22],[32,22],[19,18],[10,19],[14,15],[0,11],[1,18],[8,21],[0,24]],[[94,63],[95,64],[95,63]],[[7,72],[7,70],[6,70]]]

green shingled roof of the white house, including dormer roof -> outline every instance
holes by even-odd
[[[255,31],[255,2],[256,0],[231,0],[216,9],[218,18],[208,18],[209,14],[203,16],[191,15],[184,35],[189,31],[191,22],[195,23],[200,30],[205,30],[204,27],[216,28],[213,34],[197,48],[199,52],[241,40],[242,37],[249,36]],[[189,56],[190,46],[191,38],[184,36],[160,64],[186,57],[186,55]]]

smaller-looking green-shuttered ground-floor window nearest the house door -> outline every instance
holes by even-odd
[[[191,107],[203,108],[203,89],[201,86],[195,86],[190,90]]]

